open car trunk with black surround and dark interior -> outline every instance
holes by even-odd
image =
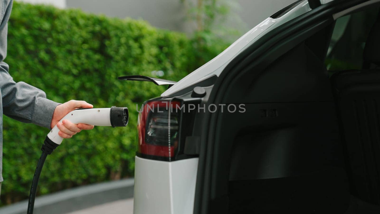
[[[380,58],[327,70],[339,19],[318,14],[279,27],[218,78],[209,104],[246,112],[206,114],[195,213],[380,213]],[[347,23],[372,20],[359,40],[379,45],[378,5],[363,14]]]

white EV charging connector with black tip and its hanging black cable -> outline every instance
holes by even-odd
[[[101,109],[75,109],[68,113],[62,120],[71,121],[71,123],[78,124],[84,123],[94,126],[127,126],[128,124],[128,108],[127,107],[111,107]],[[50,155],[55,148],[57,148],[63,138],[58,135],[59,129],[55,125],[49,134],[47,134],[44,144],[42,145],[42,154],[40,160],[38,160],[36,171],[30,187],[29,202],[27,214],[33,213],[34,200],[36,196],[38,179],[40,178],[43,164],[47,155]]]

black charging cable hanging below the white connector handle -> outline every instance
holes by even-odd
[[[40,179],[40,174],[42,171],[42,167],[44,166],[46,157],[47,155],[50,155],[54,151],[54,149],[56,149],[58,146],[59,144],[56,144],[55,142],[51,141],[51,139],[49,139],[49,137],[46,136],[44,144],[42,145],[42,148],[41,148],[42,154],[41,154],[40,160],[38,160],[36,171],[34,172],[32,186],[30,187],[27,214],[33,213],[34,200],[36,198],[38,180]]]

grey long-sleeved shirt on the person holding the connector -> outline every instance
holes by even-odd
[[[59,103],[46,99],[46,94],[38,88],[13,81],[8,73],[8,64],[3,62],[6,57],[7,22],[12,10],[12,0],[4,6],[6,10],[0,24],[0,90],[3,113],[16,120],[50,129],[53,112]]]

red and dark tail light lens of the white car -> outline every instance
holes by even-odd
[[[178,149],[179,107],[178,101],[150,101],[141,107],[137,156],[171,161]]]

